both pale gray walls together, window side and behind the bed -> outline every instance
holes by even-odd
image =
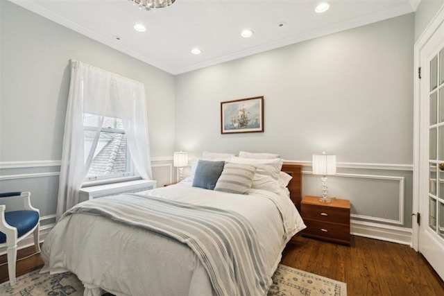
[[[175,149],[249,150],[304,164],[303,191],[318,195],[311,154],[327,151],[339,162],[330,193],[351,200],[361,232],[371,223],[392,234],[411,227],[413,14],[175,78],[8,1],[0,10],[0,191],[33,192],[42,216],[56,212],[76,59],[144,82],[159,186],[173,177]],[[251,96],[265,98],[265,132],[221,135],[221,101]]]

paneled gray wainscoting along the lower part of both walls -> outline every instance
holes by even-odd
[[[151,162],[157,187],[177,180],[172,157],[155,157]],[[303,165],[303,195],[321,195],[321,176],[311,174],[311,162],[285,163]],[[189,168],[184,168],[185,177]],[[41,241],[56,223],[59,175],[60,161],[0,163],[0,192],[31,191],[31,202],[42,216]],[[330,196],[350,200],[352,234],[411,245],[411,166],[338,164],[338,174],[329,176],[327,184]],[[19,247],[32,244],[32,238],[25,238]]]

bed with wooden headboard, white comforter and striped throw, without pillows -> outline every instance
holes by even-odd
[[[151,191],[79,204],[79,208],[87,210],[65,213],[66,216],[46,237],[42,246],[44,268],[41,272],[73,272],[85,286],[84,295],[96,296],[105,292],[125,296],[266,295],[285,245],[305,228],[296,210],[301,200],[301,166],[284,164],[282,172],[292,178],[279,193],[252,188],[249,194],[234,194],[203,189],[185,180]],[[214,239],[212,236],[210,241],[216,241],[214,245],[225,243],[228,251],[225,245],[221,247],[222,251],[212,251],[220,252],[223,259],[201,253],[201,248],[209,243],[199,245],[194,242],[194,236],[190,239],[189,236],[176,235],[176,229],[157,231],[157,224],[153,226],[150,218],[146,218],[148,214],[137,216],[131,212],[126,218],[138,220],[122,223],[114,218],[114,213],[123,210],[112,208],[119,199],[139,212],[145,207],[140,206],[141,202],[151,202],[146,205],[146,211],[151,211],[159,203],[162,218],[169,219],[168,215],[177,213],[176,216],[182,217],[182,220],[175,223],[186,224],[185,227],[190,229],[196,228],[195,224],[188,225],[184,221],[194,223],[200,218],[200,214],[196,213],[205,209],[202,219],[218,224],[226,235]],[[102,204],[97,205],[100,202]],[[169,208],[170,203],[174,208]],[[112,210],[106,211],[108,216],[101,216],[101,213],[95,212],[99,207]],[[218,217],[208,218],[207,210],[217,211],[215,215]],[[182,213],[185,215],[185,211],[191,211],[191,214],[183,220]],[[232,228],[246,229],[242,233],[239,231],[241,243],[227,243],[234,239],[232,233],[237,230],[229,230],[231,228],[219,220],[219,216],[223,216],[221,213],[234,216],[234,220],[241,221],[239,223],[245,222],[245,225]],[[141,220],[146,225],[140,226]],[[213,230],[210,232],[213,235]],[[211,246],[208,248],[211,249]],[[230,282],[229,275],[226,275],[226,280],[225,271],[231,272],[232,277],[234,274],[237,281]]]

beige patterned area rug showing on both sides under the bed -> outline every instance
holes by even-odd
[[[33,271],[17,278],[17,285],[0,285],[0,295],[20,296],[82,296],[83,285],[71,272],[49,275]],[[107,294],[110,295],[110,294]],[[273,275],[268,296],[346,296],[347,285],[309,272],[280,264]]]

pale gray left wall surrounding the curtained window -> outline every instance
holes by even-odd
[[[70,59],[144,83],[151,156],[159,159],[153,176],[168,171],[162,159],[174,149],[173,75],[9,1],[0,9],[0,192],[31,191],[42,216],[56,213]]]

